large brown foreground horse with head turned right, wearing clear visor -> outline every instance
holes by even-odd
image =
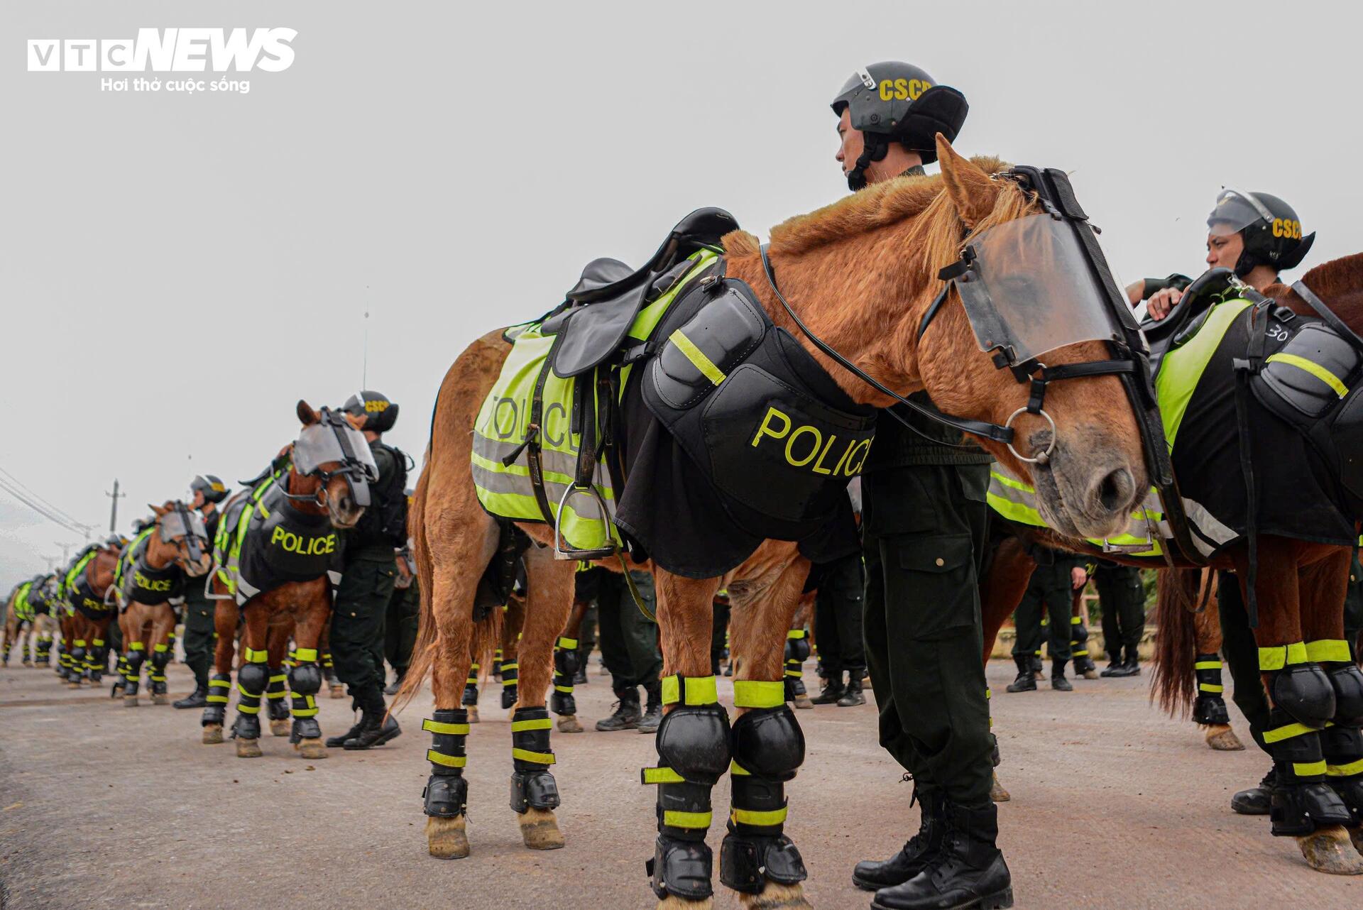
[[[784,294],[810,330],[879,383],[901,395],[927,390],[947,413],[1003,422],[1025,407],[1028,390],[1009,372],[995,369],[990,356],[980,351],[954,292],[923,345],[919,343],[919,327],[940,287],[938,272],[958,259],[962,241],[991,226],[1039,213],[1040,206],[1014,181],[991,177],[1005,168],[998,159],[966,161],[940,136],[938,146],[939,177],[891,180],[780,225],[771,232],[770,257]],[[767,285],[756,238],[733,232],[722,242],[726,274],[754,287],[767,316],[792,331],[810,350],[811,343]],[[436,708],[435,719],[425,725],[435,733],[436,744],[428,752],[433,774],[427,789],[427,838],[431,854],[444,858],[462,857],[469,850],[463,817],[468,782],[462,776],[468,722],[458,707],[469,670],[474,589],[499,539],[496,523],[476,497],[469,430],[508,350],[502,332],[491,332],[473,342],[446,373],[410,519],[421,583],[421,642],[431,646],[429,651],[421,648],[420,670],[433,672]],[[857,403],[890,403],[890,396],[844,372],[822,351],[810,353]],[[1105,357],[1100,343],[1088,342],[1060,349],[1048,357],[1048,364]],[[1139,435],[1122,386],[1112,376],[1062,383],[1054,387],[1045,407],[1055,418],[1054,435],[1040,418],[1022,414],[1017,439],[1032,451],[1054,443],[1048,465],[1024,463],[1003,445],[988,443],[987,447],[1020,475],[1043,477],[1047,508],[1075,527],[1086,529],[1084,534],[1114,531],[1123,523],[1137,490],[1146,488]],[[575,565],[553,559],[553,550],[547,546],[552,529],[526,523],[522,530],[540,546],[532,546],[525,554],[529,590],[515,717],[527,719],[521,729],[512,723],[512,785],[523,794],[517,802],[523,841],[529,847],[544,849],[563,845],[553,815],[557,790],[545,770],[553,755],[548,748],[549,722],[542,706],[552,666],[549,655],[572,605]],[[691,729],[699,729],[698,736],[705,737],[696,748],[724,757],[722,767],[688,770],[690,776],[664,768],[647,778],[660,782],[654,888],[668,895],[662,906],[709,906],[709,880],[687,888],[667,880],[662,870],[671,868],[676,856],[710,868],[710,851],[703,843],[709,811],[672,809],[679,798],[683,800],[680,805],[707,808],[710,787],[729,767],[729,745],[722,734],[726,721],[721,725],[717,719],[709,726],[710,718],[724,718],[710,674],[711,603],[721,579],[683,578],[657,567],[653,571],[664,651],[664,703],[668,706],[657,734],[660,752],[664,752],[661,764],[668,764],[665,749],[673,715],[684,721],[676,725],[677,729],[695,722]],[[781,762],[793,766],[769,766],[767,759],[746,752],[735,756],[750,766],[739,768],[733,778],[740,798],[759,783],[774,794],[774,800],[784,802],[784,781],[793,776],[803,760],[799,725],[785,706],[784,651],[808,572],[810,561],[799,554],[795,542],[766,541],[732,572],[733,580],[726,584],[733,608],[735,704],[740,714],[735,729],[748,729],[754,726],[751,721],[770,719],[780,725],[781,736],[786,737],[782,742],[789,745]],[[420,680],[417,669],[414,666],[408,674],[409,691]],[[677,714],[676,708],[683,706]],[[672,736],[688,734],[673,730]],[[746,740],[736,733],[733,741],[741,745]],[[747,774],[754,768],[755,775]],[[751,821],[758,815],[762,815],[761,821]],[[762,850],[762,856],[776,845],[773,850],[784,851],[780,858],[788,870],[781,873],[765,865],[765,872],[743,884],[743,906],[807,906],[800,885],[803,864],[781,834],[785,809],[735,817],[740,819],[733,823],[739,827],[728,839],[733,839],[739,850]],[[755,841],[746,827],[750,821],[763,826],[761,832],[771,836]],[[677,836],[679,832],[686,839]]]

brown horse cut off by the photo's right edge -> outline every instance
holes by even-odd
[[[1325,300],[1334,313],[1353,331],[1363,331],[1363,253],[1355,253],[1325,263],[1323,266],[1317,266],[1306,274],[1303,283]],[[1265,294],[1299,315],[1314,315],[1310,305],[1296,292],[1284,285],[1272,285],[1265,289]],[[1227,414],[1225,420],[1234,421],[1235,417],[1234,414]],[[1189,488],[1183,488],[1182,492],[1193,499],[1198,499],[1199,495],[1199,490]],[[1010,531],[1017,535],[1009,535]],[[1130,565],[1144,565],[1146,568],[1165,568],[1167,565],[1161,559],[1152,560],[1120,553],[1100,553],[1099,548],[1086,541],[1063,537],[1048,529],[1020,529],[1010,526],[1010,531],[1005,531],[1005,539],[999,542],[994,553],[990,574],[981,583],[984,659],[988,659],[999,627],[1017,606],[1030,576],[1032,560],[1026,556],[1021,537],[1039,541],[1051,548],[1101,554],[1104,559]],[[1347,659],[1347,654],[1341,658],[1337,654],[1337,648],[1330,651],[1328,657],[1315,657],[1303,644],[1344,643],[1343,605],[1348,586],[1351,552],[1349,546],[1315,544],[1272,534],[1259,537],[1258,575],[1255,580],[1258,627],[1254,629],[1254,638],[1261,651],[1261,666],[1272,661],[1273,655],[1283,655],[1288,662],[1287,666],[1303,666],[1307,668],[1306,672],[1311,672],[1308,668],[1313,666],[1317,668],[1315,672],[1319,672],[1319,662],[1325,662],[1330,668],[1332,674],[1325,682],[1326,687],[1334,685],[1336,673],[1351,674],[1356,672],[1356,666],[1352,670],[1349,669],[1352,662]],[[1199,568],[1182,554],[1172,557],[1172,561],[1175,568]],[[1246,579],[1250,578],[1250,554],[1246,542],[1242,541],[1224,548],[1212,560],[1210,568],[1234,571],[1240,583],[1242,597],[1249,598]],[[1195,576],[1193,589],[1194,591],[1197,590]],[[1180,602],[1186,599],[1180,598]],[[1175,704],[1178,691],[1191,693],[1187,669],[1195,662],[1195,638],[1189,635],[1171,636],[1165,644],[1174,650],[1167,657],[1168,663],[1163,680],[1164,685],[1168,687],[1169,697],[1174,699],[1169,703]],[[1304,657],[1298,659],[1298,653]],[[1283,666],[1283,663],[1278,663],[1278,666]],[[1262,678],[1266,692],[1273,691],[1272,680],[1276,677],[1276,673],[1277,670],[1264,666]],[[1325,678],[1323,674],[1321,678]],[[1343,680],[1343,684],[1352,687],[1352,677]],[[1349,692],[1351,689],[1344,691]],[[1353,696],[1340,696],[1338,707],[1352,712],[1355,700]],[[1336,699],[1329,699],[1329,703],[1336,704]],[[1341,770],[1363,768],[1363,748],[1359,748],[1356,741],[1351,740],[1351,737],[1356,736],[1353,730],[1358,730],[1359,719],[1349,715],[1336,717],[1333,721],[1330,718],[1321,718],[1319,723],[1313,725],[1293,723],[1281,727],[1284,734],[1281,738],[1274,740],[1292,740],[1292,747],[1302,749],[1302,753],[1307,756],[1313,752],[1314,755],[1321,755],[1319,737],[1322,734],[1319,730],[1325,726],[1336,727],[1336,733],[1332,734],[1336,742],[1333,747],[1336,752],[1330,755],[1329,763],[1319,762],[1319,766],[1325,767],[1329,775],[1328,781],[1338,790],[1337,798],[1343,798],[1344,804],[1330,808],[1328,812],[1322,811],[1322,820],[1319,821],[1314,816],[1303,816],[1298,820],[1302,828],[1314,826],[1315,831],[1292,834],[1292,836],[1296,836],[1307,862],[1323,872],[1363,873],[1363,854],[1351,845],[1351,834],[1356,842],[1363,843],[1363,832],[1360,832],[1358,821],[1353,821],[1349,830],[1330,821],[1330,819],[1344,817],[1345,813],[1352,819],[1358,819],[1358,813],[1363,812],[1363,785],[1358,783],[1356,771],[1352,774],[1341,772],[1338,775],[1329,771],[1330,767]],[[1299,764],[1306,768],[1314,767],[1317,763],[1303,759]],[[1274,828],[1277,830],[1277,824],[1274,824]]]

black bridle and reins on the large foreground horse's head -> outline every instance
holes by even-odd
[[[1055,170],[1045,172],[1045,177],[1051,178],[1051,184],[1060,183],[1059,180],[1056,180],[1055,177],[1056,174],[1059,174],[1059,177],[1063,178],[1063,191],[1067,192],[1069,198],[1066,198],[1066,192],[1047,193],[1045,192],[1048,189],[1047,181],[1043,177],[1043,172],[1037,170],[1036,168],[1014,168],[1000,174],[992,174],[992,177],[995,180],[1011,180],[1017,183],[1020,187],[1022,187],[1024,191],[1029,191],[1035,195],[1035,198],[1037,199],[1037,202],[1040,202],[1040,204],[1043,206],[1043,208],[1048,215],[1051,215],[1058,221],[1070,222],[1071,226],[1074,226],[1077,230],[1081,232],[1081,237],[1082,234],[1086,233],[1088,234],[1086,238],[1092,240],[1092,232],[1096,229],[1088,225],[1088,215],[1085,215],[1082,210],[1078,208],[1078,203],[1073,200],[1073,191],[1069,189],[1069,180],[1065,178],[1062,172],[1055,172]],[[1052,198],[1048,196],[1055,196],[1056,198],[1055,202],[1052,202]],[[1065,203],[1067,202],[1073,202],[1073,206],[1066,206]],[[1082,245],[1085,252],[1088,253],[1090,266],[1094,267],[1094,270],[1107,272],[1107,263],[1105,260],[1101,259],[1100,252],[1097,253],[1097,259],[1094,259],[1096,244],[1082,244]],[[1045,388],[1048,383],[1059,381],[1063,379],[1081,379],[1081,377],[1104,376],[1104,375],[1134,376],[1141,372],[1137,362],[1137,351],[1145,350],[1145,342],[1144,339],[1141,339],[1139,328],[1135,327],[1134,320],[1130,319],[1124,320],[1130,321],[1130,331],[1134,332],[1134,339],[1138,342],[1137,346],[1131,343],[1133,338],[1130,334],[1126,338],[1122,338],[1122,335],[1116,331],[1119,327],[1120,328],[1126,327],[1124,321],[1118,319],[1116,320],[1118,326],[1114,327],[1114,338],[1108,341],[1109,346],[1114,350],[1114,357],[1111,360],[1047,366],[1035,357],[1028,358],[1022,362],[1013,362],[1011,356],[1005,349],[1002,347],[996,349],[994,351],[995,369],[1003,369],[1006,366],[1011,371],[1017,381],[1030,384],[1030,394],[1028,396],[1028,403],[1024,407],[1020,407],[1011,414],[1009,414],[1009,418],[1003,424],[992,424],[988,421],[979,421],[968,417],[955,417],[951,414],[943,414],[942,411],[938,410],[930,410],[927,407],[923,407],[921,405],[917,405],[916,402],[909,401],[908,398],[900,395],[898,392],[886,388],[882,383],[868,376],[856,364],[853,364],[846,357],[834,350],[822,338],[815,335],[808,326],[804,324],[804,321],[796,315],[795,309],[786,301],[785,296],[781,293],[781,289],[777,287],[776,272],[773,271],[771,260],[767,256],[767,247],[769,244],[763,244],[761,247],[762,270],[766,272],[767,282],[771,285],[771,290],[776,294],[777,300],[781,302],[781,307],[785,308],[786,315],[791,316],[795,324],[800,328],[801,332],[804,332],[806,338],[808,338],[815,347],[827,354],[830,358],[833,358],[834,362],[837,362],[840,366],[851,372],[857,379],[863,380],[876,391],[893,398],[900,406],[906,407],[915,411],[916,414],[925,417],[931,421],[935,421],[938,424],[943,424],[946,426],[951,426],[965,433],[970,433],[996,443],[1002,443],[1007,445],[1009,451],[1013,452],[1013,455],[1022,462],[1030,465],[1047,465],[1051,459],[1051,454],[1055,451],[1056,437],[1058,437],[1055,432],[1055,420],[1048,413],[1045,413],[1043,407],[1043,405],[1045,403]],[[919,332],[916,341],[921,341],[923,334],[928,330],[928,326],[932,324],[932,320],[938,315],[938,312],[940,312],[942,305],[946,302],[949,292],[951,290],[951,285],[958,281],[962,282],[970,281],[972,275],[970,267],[973,262],[975,262],[975,249],[968,245],[961,252],[960,260],[957,260],[955,263],[947,266],[946,268],[938,272],[938,278],[943,281],[945,285],[942,290],[938,293],[938,296],[932,300],[932,304],[924,312],[923,320],[919,323]],[[1108,283],[1111,283],[1111,279],[1108,282],[1100,282],[1100,285],[1103,286]],[[1146,376],[1149,375],[1148,366],[1145,375]],[[1149,401],[1153,405],[1153,390],[1150,392]],[[943,443],[940,440],[927,436],[920,429],[913,426],[913,424],[910,424],[904,415],[898,414],[894,407],[886,410],[891,417],[894,417],[894,420],[900,421],[910,430],[927,439],[928,441],[932,441],[934,444],[951,445],[954,448],[965,448],[965,445],[954,445],[951,443]],[[1030,458],[1022,455],[1021,452],[1017,451],[1017,448],[1013,447],[1015,436],[1013,421],[1015,421],[1022,414],[1036,414],[1044,418],[1051,426],[1051,439],[1045,450],[1037,452]],[[1152,471],[1152,475],[1157,475],[1157,473]]]

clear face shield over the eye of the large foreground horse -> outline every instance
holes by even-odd
[[[954,283],[980,350],[999,350],[1007,365],[1119,336],[1094,266],[1060,218],[1028,215],[990,227],[961,263]]]

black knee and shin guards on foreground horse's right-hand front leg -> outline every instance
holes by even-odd
[[[720,847],[720,880],[758,894],[765,879],[796,884],[808,877],[800,851],[784,834],[785,781],[804,762],[804,733],[789,706],[752,708],[729,732],[733,752],[729,832]]]

